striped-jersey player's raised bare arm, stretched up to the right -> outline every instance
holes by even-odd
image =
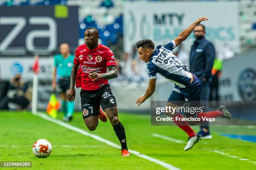
[[[209,20],[207,17],[200,17],[198,20],[196,20],[192,25],[190,25],[186,30],[183,30],[178,37],[174,39],[176,47],[182,43],[182,41],[186,40],[187,37],[191,34],[191,32],[194,30],[194,28],[200,24],[202,21]]]

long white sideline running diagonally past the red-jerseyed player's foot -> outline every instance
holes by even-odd
[[[121,149],[121,147],[119,145],[117,145],[117,144],[115,144],[113,142],[110,142],[109,140],[105,140],[104,138],[101,138],[100,136],[93,135],[91,133],[88,133],[85,130],[79,129],[77,127],[69,125],[69,124],[67,124],[65,122],[62,122],[60,120],[53,119],[53,118],[49,117],[48,115],[46,115],[46,114],[44,114],[42,112],[38,112],[38,113],[36,113],[36,115],[38,115],[39,117],[42,117],[45,120],[49,120],[51,122],[54,122],[54,123],[56,123],[58,125],[61,125],[61,126],[65,127],[65,128],[68,128],[70,130],[74,130],[74,131],[76,131],[78,133],[81,133],[83,135],[90,136],[91,138],[94,138],[95,140],[99,140],[100,142],[106,143],[107,145],[110,145],[110,146],[112,146],[114,148]],[[151,158],[151,157],[149,157],[147,155],[144,155],[144,154],[141,154],[141,153],[139,153],[139,152],[137,152],[135,150],[129,150],[129,152],[134,154],[134,155],[136,155],[136,156],[138,156],[138,157],[141,157],[141,158],[144,158],[144,159],[149,160],[151,162],[154,162],[156,164],[159,164],[159,165],[163,166],[166,169],[169,169],[169,170],[180,170],[179,168],[176,168],[173,165],[170,165],[168,163],[164,163],[163,161],[157,160],[155,158]]]

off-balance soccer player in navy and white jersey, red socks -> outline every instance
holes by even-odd
[[[202,21],[207,21],[207,17],[201,17],[196,20],[187,29],[182,31],[177,38],[164,45],[154,47],[154,42],[149,39],[140,40],[136,43],[138,48],[139,57],[148,62],[148,76],[149,83],[148,88],[144,95],[142,95],[136,101],[136,104],[141,105],[145,100],[150,97],[156,87],[156,73],[162,75],[166,79],[174,82],[175,87],[168,98],[167,107],[176,107],[177,101],[200,101],[200,95],[202,91],[202,85],[200,80],[191,72],[189,72],[184,65],[178,60],[178,58],[172,53],[172,50],[177,47],[182,41],[186,40],[194,28]],[[180,103],[180,102],[178,102]],[[167,113],[166,113],[167,114]],[[182,118],[180,113],[171,115],[178,118]],[[212,112],[197,113],[197,117],[226,117],[231,118],[230,113],[226,110],[225,106],[220,106],[219,110]],[[182,119],[178,119],[182,120]],[[189,150],[199,140],[200,136],[189,126],[186,121],[176,121],[174,123],[181,128],[189,136],[188,143],[184,150]],[[199,123],[199,122],[198,122]]]

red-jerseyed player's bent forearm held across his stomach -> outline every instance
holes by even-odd
[[[110,80],[110,79],[113,79],[116,77],[118,77],[118,72],[114,65],[110,65],[108,67],[108,72],[106,72],[106,73],[102,73],[102,74],[99,74],[97,72],[89,73],[89,78],[91,78],[92,81],[99,80],[99,79]]]

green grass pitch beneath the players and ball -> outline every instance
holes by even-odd
[[[183,151],[187,134],[175,126],[151,126],[149,115],[120,113],[127,135],[128,148],[152,158],[171,164],[182,170],[255,170],[256,143],[230,139],[219,133],[256,135],[256,128],[211,127],[213,138],[201,140],[191,150]],[[58,115],[61,119],[62,115]],[[99,122],[90,132],[84,125],[82,115],[74,114],[69,123],[119,145],[110,122]],[[198,130],[197,126],[193,129]],[[184,143],[154,137],[164,135]],[[32,152],[33,143],[47,139],[53,145],[48,158],[37,158]],[[66,147],[68,146],[68,147]],[[221,155],[212,152],[228,153]],[[241,157],[239,160],[232,156]],[[131,154],[122,157],[120,150],[42,119],[29,112],[0,112],[0,161],[32,161],[32,168],[64,170],[162,170],[159,164]],[[0,168],[4,169],[4,168]],[[5,168],[19,169],[19,168]]]

